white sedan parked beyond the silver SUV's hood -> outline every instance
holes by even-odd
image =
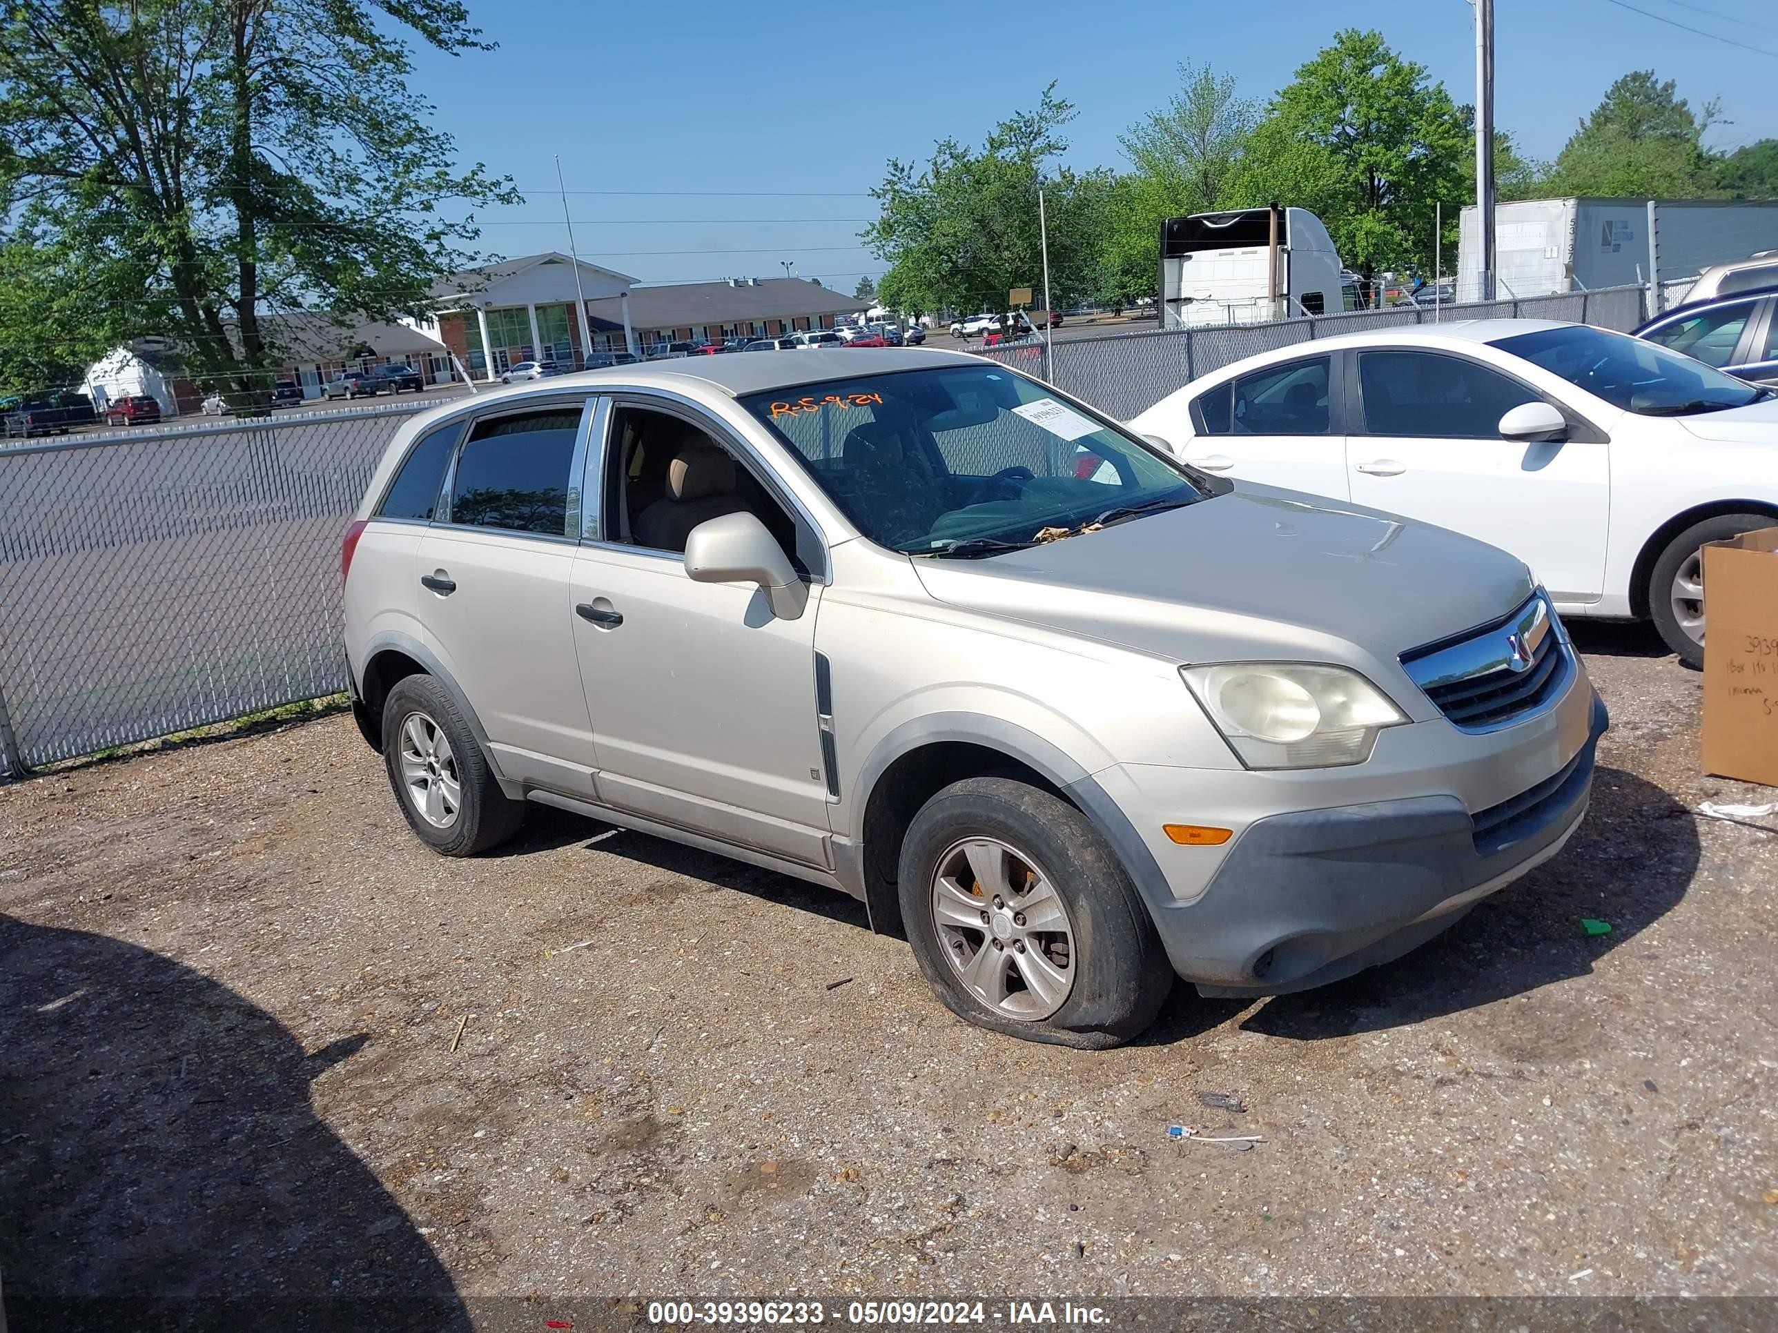
[[[1563,615],[1652,619],[1693,666],[1700,547],[1778,524],[1778,395],[1579,323],[1317,338],[1193,380],[1131,428],[1211,473],[1479,537]]]

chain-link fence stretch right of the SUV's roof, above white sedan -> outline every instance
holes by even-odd
[[[1255,352],[1271,352],[1344,332],[1444,320],[1572,320],[1629,332],[1646,318],[1643,315],[1646,299],[1646,288],[1620,286],[1437,309],[1403,304],[1374,311],[1323,315],[1312,320],[1070,338],[1054,343],[1053,348],[1045,348],[1040,341],[992,347],[983,348],[981,355],[1026,370],[1118,421],[1129,421],[1198,375],[1221,370]]]

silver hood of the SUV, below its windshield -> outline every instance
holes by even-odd
[[[1510,613],[1533,590],[1524,562],[1485,542],[1248,483],[1028,551],[916,558],[914,569],[942,603],[1181,663],[1390,663]]]

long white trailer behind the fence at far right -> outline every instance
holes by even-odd
[[[1458,300],[1474,300],[1481,238],[1476,206],[1463,210],[1458,242]],[[1494,215],[1495,297],[1545,297],[1646,283],[1650,254],[1661,281],[1746,259],[1778,247],[1778,203],[1741,199],[1655,201],[1655,245],[1648,245],[1646,199],[1526,199]]]

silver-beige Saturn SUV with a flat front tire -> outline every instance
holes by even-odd
[[[953,352],[619,366],[407,423],[354,713],[464,857],[526,802],[853,894],[939,999],[1106,1047],[1556,855],[1606,711],[1524,563],[1173,462]]]

